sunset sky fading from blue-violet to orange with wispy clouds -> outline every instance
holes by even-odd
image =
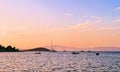
[[[120,47],[120,0],[0,0],[0,44],[51,41],[61,50]]]

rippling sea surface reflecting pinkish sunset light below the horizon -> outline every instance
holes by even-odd
[[[0,52],[0,72],[120,72],[120,52]]]

